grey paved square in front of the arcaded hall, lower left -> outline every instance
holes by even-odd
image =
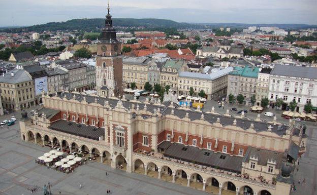
[[[70,174],[48,169],[36,164],[35,159],[50,149],[22,141],[17,129],[17,124],[0,129],[0,195],[43,194],[42,186],[48,182],[53,194],[61,191],[65,195],[105,195],[107,189],[118,195],[208,194],[97,162],[80,166]],[[79,183],[83,189],[79,189]],[[35,186],[39,190],[31,193],[28,188]]]

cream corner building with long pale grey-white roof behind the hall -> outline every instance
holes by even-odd
[[[232,70],[233,67],[228,67],[210,74],[179,72],[178,94],[189,95],[189,89],[192,87],[196,95],[203,90],[207,99],[224,95],[227,93],[228,74]]]

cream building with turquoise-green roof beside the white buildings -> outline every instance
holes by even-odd
[[[239,94],[242,94],[244,104],[249,104],[251,96],[257,95],[258,74],[258,67],[234,67],[234,70],[228,76],[227,96],[232,94],[237,97]]]

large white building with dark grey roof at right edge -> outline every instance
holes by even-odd
[[[268,98],[270,107],[276,107],[277,98],[285,103],[295,100],[295,110],[300,112],[308,102],[317,106],[317,68],[275,65],[270,74]]]

